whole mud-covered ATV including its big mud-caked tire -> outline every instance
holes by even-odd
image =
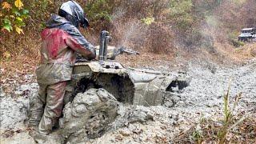
[[[102,31],[97,61],[78,59],[74,65],[71,101],[60,119],[65,142],[85,142],[104,134],[118,116],[118,106],[158,106],[178,101],[179,90],[188,86],[184,74],[167,74],[156,70],[125,68],[114,61],[118,54],[138,54],[124,47],[108,46],[109,33]]]

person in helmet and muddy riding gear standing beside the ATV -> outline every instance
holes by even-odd
[[[34,140],[43,142],[62,114],[67,83],[71,80],[75,54],[91,60],[95,49],[79,32],[89,26],[77,2],[64,2],[42,30],[41,61],[36,70],[38,96],[30,106],[29,126],[36,128]]]

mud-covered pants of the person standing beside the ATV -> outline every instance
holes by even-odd
[[[58,82],[53,85],[39,84],[36,98],[30,102],[29,125],[37,127],[38,133],[50,134],[54,124],[62,114],[64,97],[69,97],[66,90],[68,82]]]

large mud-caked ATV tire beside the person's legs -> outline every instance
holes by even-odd
[[[104,89],[90,89],[66,104],[63,114],[60,126],[65,143],[86,142],[105,133],[118,115],[118,101]]]

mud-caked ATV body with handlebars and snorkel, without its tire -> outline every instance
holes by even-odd
[[[102,40],[104,39],[104,40]],[[158,106],[166,94],[174,88],[182,90],[188,85],[184,74],[167,74],[156,70],[125,68],[114,61],[118,54],[139,54],[124,47],[108,46],[108,32],[101,34],[101,46],[96,47],[98,61],[86,62],[80,59],[74,65],[73,82],[75,96],[90,88],[102,88],[108,91],[118,102]]]

